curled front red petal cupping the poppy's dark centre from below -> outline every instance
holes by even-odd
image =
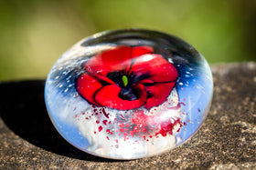
[[[119,110],[129,110],[139,108],[146,102],[147,94],[144,85],[136,85],[134,89],[140,97],[136,100],[123,100],[119,97],[121,88],[118,85],[105,85],[94,95],[94,100],[99,105],[104,105]]]

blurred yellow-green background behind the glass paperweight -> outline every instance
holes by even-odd
[[[210,64],[256,61],[255,0],[0,0],[0,81],[46,78],[81,38],[131,27],[179,36]]]

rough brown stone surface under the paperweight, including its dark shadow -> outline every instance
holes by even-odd
[[[44,81],[0,84],[0,169],[256,169],[256,63],[212,65],[213,103],[186,144],[154,157],[116,161],[69,145],[51,124]]]

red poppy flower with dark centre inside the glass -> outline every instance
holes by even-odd
[[[178,76],[175,66],[149,46],[117,46],[92,56],[84,69],[77,82],[80,95],[119,110],[161,105]]]

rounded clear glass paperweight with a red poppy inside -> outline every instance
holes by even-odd
[[[53,125],[91,155],[158,155],[194,135],[213,92],[208,63],[173,35],[127,29],[91,35],[61,55],[48,74]]]

